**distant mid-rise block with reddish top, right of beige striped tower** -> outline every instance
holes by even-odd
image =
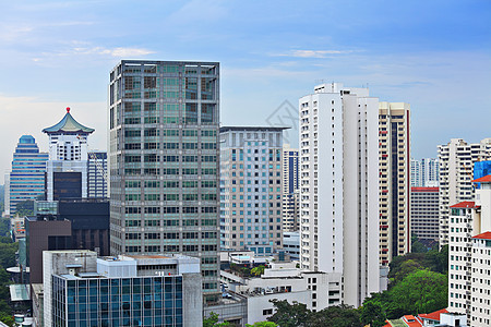
[[[439,187],[411,187],[411,233],[419,240],[439,241]]]

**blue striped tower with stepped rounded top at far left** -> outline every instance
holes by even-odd
[[[22,135],[15,147],[12,172],[5,174],[5,215],[14,216],[16,205],[36,199],[45,192],[47,153],[39,153],[31,135]]]

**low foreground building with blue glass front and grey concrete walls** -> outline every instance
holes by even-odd
[[[46,326],[201,326],[200,261],[44,253]]]

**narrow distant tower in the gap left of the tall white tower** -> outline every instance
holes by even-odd
[[[283,147],[283,229],[298,231],[300,227],[300,193],[298,148]]]

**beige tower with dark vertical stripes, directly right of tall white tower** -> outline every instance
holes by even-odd
[[[380,263],[410,251],[410,108],[380,102]]]

